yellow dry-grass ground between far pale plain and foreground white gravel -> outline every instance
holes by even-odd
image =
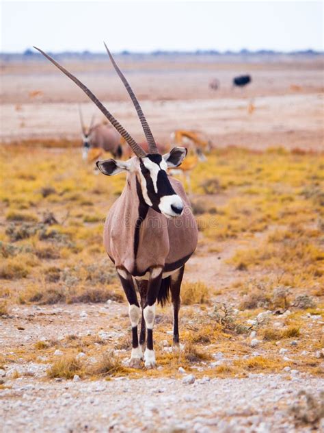
[[[49,378],[165,376],[179,367],[211,376],[285,367],[323,373],[318,154],[233,148],[213,151],[195,169],[200,241],[182,290],[185,349],[171,350],[172,316],[159,310],[163,368],[154,371],[123,364],[129,319],[102,246],[105,214],[124,177],[94,175],[70,149],[24,147],[3,149],[1,172],[1,364],[17,367],[17,376],[28,362],[49,365]],[[85,357],[75,361],[79,352]]]

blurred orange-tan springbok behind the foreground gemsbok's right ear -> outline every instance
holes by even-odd
[[[195,131],[177,129],[170,136],[172,143],[184,145],[188,148],[188,156],[178,169],[173,169],[173,175],[182,175],[187,182],[188,193],[191,194],[191,171],[195,169],[199,162],[206,162],[204,151],[211,151],[211,140],[203,140]]]

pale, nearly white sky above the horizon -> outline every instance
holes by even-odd
[[[3,1],[1,52],[323,51],[321,1]]]

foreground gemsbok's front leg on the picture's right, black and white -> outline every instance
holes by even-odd
[[[162,268],[154,268],[150,273],[150,280],[148,282],[148,293],[146,295],[146,303],[144,306],[143,314],[148,330],[148,337],[146,349],[144,353],[145,367],[152,369],[155,367],[155,354],[153,349],[153,325],[155,319],[155,304],[157,303],[157,295],[161,287]]]

